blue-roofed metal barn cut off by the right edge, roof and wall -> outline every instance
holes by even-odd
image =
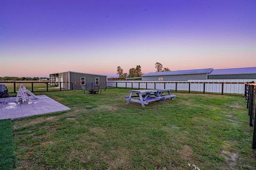
[[[256,67],[214,69],[209,79],[256,79]]]

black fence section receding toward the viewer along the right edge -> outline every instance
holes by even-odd
[[[250,126],[253,126],[252,148],[256,149],[256,84],[249,82],[245,85],[245,100],[249,112]]]

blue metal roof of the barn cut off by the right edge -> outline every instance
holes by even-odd
[[[214,69],[209,75],[226,74],[256,74],[256,67],[236,68],[236,69]]]

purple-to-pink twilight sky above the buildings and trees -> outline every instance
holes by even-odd
[[[0,77],[256,66],[255,0],[0,1]]]

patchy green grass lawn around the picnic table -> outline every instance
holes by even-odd
[[[180,92],[142,108],[127,89],[39,94],[71,110],[12,121],[19,169],[256,168],[241,96]]]

